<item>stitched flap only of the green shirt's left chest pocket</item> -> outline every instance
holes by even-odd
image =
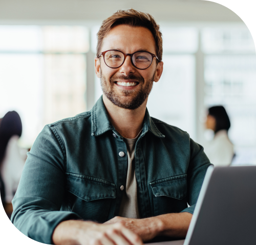
[[[66,173],[66,188],[84,201],[116,198],[115,184],[90,176]]]

